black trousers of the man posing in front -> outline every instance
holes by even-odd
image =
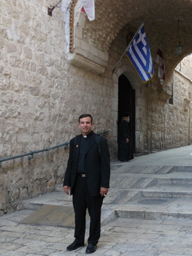
[[[103,197],[88,192],[86,178],[77,176],[74,185],[73,206],[75,214],[74,237],[78,243],[85,241],[86,211],[90,215],[88,244],[97,244],[101,233],[101,206]]]

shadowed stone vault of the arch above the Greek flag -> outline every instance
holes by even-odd
[[[192,52],[192,3],[190,0],[165,1],[101,1],[95,0],[96,19],[89,21],[80,12],[74,21],[74,53],[69,55],[70,63],[85,69],[103,73],[109,59],[109,49],[113,40],[122,29],[126,29],[123,48],[119,50],[119,58],[131,41],[139,26],[144,22],[150,50],[155,59],[159,44],[164,51],[166,79],[172,74],[174,67]],[[180,31],[178,31],[180,20]],[[179,33],[178,33],[179,32]],[[182,55],[174,54],[174,47],[184,46]],[[82,45],[83,51],[81,49]],[[117,63],[114,59],[112,69]]]

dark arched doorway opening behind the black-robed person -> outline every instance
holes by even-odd
[[[125,75],[118,79],[118,127],[123,113],[130,113],[130,133],[133,151],[135,152],[135,90]]]

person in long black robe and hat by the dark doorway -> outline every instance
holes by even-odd
[[[131,136],[128,128],[129,121],[129,113],[124,113],[118,129],[118,160],[121,162],[128,162],[134,159]]]

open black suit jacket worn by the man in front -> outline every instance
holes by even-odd
[[[64,186],[71,187],[71,195],[73,195],[74,182],[77,178],[81,136],[77,135],[69,143],[69,159],[64,177]],[[100,136],[99,145],[101,154],[99,154],[99,147],[96,143],[96,133],[91,132],[88,149],[85,152],[85,178],[88,191],[93,196],[100,194],[101,187],[110,187],[110,153],[107,139]]]

